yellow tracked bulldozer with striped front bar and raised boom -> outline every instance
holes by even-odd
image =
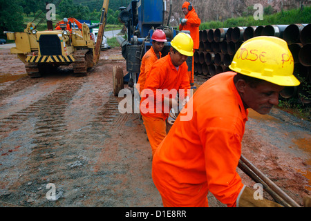
[[[16,44],[11,53],[23,61],[30,77],[41,77],[47,70],[70,64],[73,64],[75,76],[85,76],[100,57],[108,6],[109,0],[104,0],[96,42],[86,23],[79,28],[73,26],[71,30],[66,24],[59,23],[60,30],[44,31],[38,31],[34,23],[28,23],[23,32],[5,32]]]

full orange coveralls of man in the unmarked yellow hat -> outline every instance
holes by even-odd
[[[178,70],[171,63],[170,53],[156,61],[147,76],[142,99],[140,101],[140,113],[147,131],[152,153],[162,142],[166,133],[165,119],[169,116],[169,110],[164,109],[164,97],[175,98],[179,89],[185,89],[185,93],[180,93],[183,99],[188,96],[190,90],[189,78],[187,75],[186,62],[178,66]],[[165,89],[170,93],[165,93]],[[175,89],[175,90],[173,90]],[[159,91],[159,90],[162,90]]]

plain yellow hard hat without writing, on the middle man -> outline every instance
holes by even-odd
[[[180,52],[182,55],[194,55],[194,40],[191,39],[189,34],[184,32],[178,33],[178,35],[176,35],[173,40],[171,40],[171,46],[178,50],[178,52]]]

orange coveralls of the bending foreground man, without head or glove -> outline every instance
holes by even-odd
[[[236,172],[248,111],[234,85],[234,72],[206,81],[186,104],[192,119],[178,115],[153,157],[153,182],[164,206],[208,206],[207,193],[236,206],[243,188]]]

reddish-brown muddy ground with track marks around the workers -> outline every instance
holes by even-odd
[[[86,77],[69,66],[32,79],[0,49],[0,206],[162,206],[142,120],[117,109],[113,66],[126,73],[120,48],[102,51]],[[302,205],[311,191],[310,123],[277,108],[250,111],[243,139],[242,154]],[[209,206],[225,205],[209,194]]]

